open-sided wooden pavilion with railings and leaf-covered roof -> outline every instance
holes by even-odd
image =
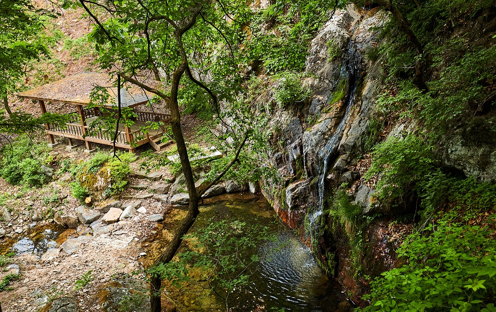
[[[55,81],[41,87],[17,94],[19,98],[37,100],[40,103],[42,114],[47,112],[45,102],[62,102],[68,105],[74,105],[77,111],[70,113],[74,116],[66,125],[51,125],[47,124],[47,133],[50,141],[50,146],[56,146],[55,136],[65,137],[69,141],[67,149],[76,147],[74,139],[83,140],[86,144],[86,153],[92,153],[91,143],[100,143],[105,145],[113,145],[114,141],[108,134],[108,131],[99,130],[89,131],[89,125],[103,116],[104,113],[100,109],[115,109],[112,103],[117,103],[117,87],[108,88],[109,93],[114,94],[114,98],[110,99],[108,105],[102,105],[95,108],[87,108],[90,102],[90,92],[94,86],[112,86],[110,76],[101,73],[79,73],[68,76],[62,80]],[[121,107],[132,108],[137,117],[133,118],[134,124],[131,126],[119,125],[119,132],[116,138],[116,147],[128,149],[134,152],[134,148],[146,143],[150,143],[156,150],[160,150],[167,143],[160,143],[161,137],[165,132],[164,125],[170,121],[171,115],[150,113],[139,111],[136,107],[146,104],[153,95],[136,86],[127,89],[121,89]],[[116,105],[116,104],[114,104]],[[68,114],[69,115],[69,114]],[[142,127],[147,122],[161,122],[162,126],[158,129],[143,131]],[[133,146],[130,142],[135,139]],[[172,142],[172,141],[171,141]]]

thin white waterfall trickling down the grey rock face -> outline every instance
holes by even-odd
[[[349,77],[348,96],[345,100],[346,111],[343,116],[343,119],[340,121],[339,125],[337,126],[336,131],[327,140],[324,146],[322,146],[322,148],[319,150],[317,154],[317,162],[316,162],[317,176],[315,177],[317,182],[312,183],[310,185],[310,205],[306,216],[307,218],[306,236],[307,239],[310,239],[312,243],[318,242],[319,239],[318,235],[319,235],[324,194],[325,194],[325,175],[329,170],[330,162],[333,159],[332,156],[335,154],[337,150],[339,141],[343,134],[344,127],[346,125],[346,121],[348,119],[348,115],[351,111],[351,108],[354,105],[355,94],[357,92],[357,87],[359,84],[360,63],[361,63],[361,58],[355,47],[355,42],[352,39],[350,40],[346,48],[345,62],[341,67],[341,72],[340,72],[341,76]],[[316,250],[313,251],[315,252]]]

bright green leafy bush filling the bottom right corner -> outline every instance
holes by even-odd
[[[371,283],[361,311],[496,311],[496,241],[455,215],[407,238],[398,250],[406,263]]]

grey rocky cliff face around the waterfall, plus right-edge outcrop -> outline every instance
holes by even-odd
[[[375,100],[384,84],[381,57],[372,62],[366,55],[377,46],[378,29],[387,18],[377,8],[366,11],[349,6],[336,11],[316,34],[306,62],[309,78],[305,85],[312,90],[311,99],[304,107],[279,108],[272,118],[271,144],[277,151],[270,159],[282,182],[262,181],[263,192],[279,216],[300,230],[322,266],[355,298],[364,291],[364,283],[355,274],[357,267],[368,275],[391,269],[400,244],[397,234],[411,230],[408,222],[391,225],[390,216],[415,209],[405,198],[403,211],[381,210],[385,208],[371,198],[373,183],[363,179],[371,162],[366,148],[372,135],[370,124],[381,120]],[[413,120],[388,121],[379,136],[402,136],[415,126]],[[443,166],[475,175],[480,181],[494,180],[495,141],[474,141],[470,131],[476,130],[460,127],[445,138],[440,156]],[[326,213],[330,194],[343,183],[350,200],[362,205],[364,214],[375,209],[384,216],[361,233],[360,254],[350,249],[349,229],[336,225]]]

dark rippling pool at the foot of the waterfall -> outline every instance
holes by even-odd
[[[277,217],[263,197],[228,195],[208,203],[200,208],[192,231],[204,227],[212,219],[221,218],[247,224],[262,223],[277,237],[277,240],[250,251],[257,253],[260,261],[250,269],[248,285],[230,295],[230,311],[353,311],[337,282],[325,275],[310,249],[292,231],[274,222]],[[174,296],[176,302],[184,302],[186,310],[191,305],[201,307],[201,311],[226,311],[225,301],[218,297],[216,307],[212,298],[208,299],[207,309],[202,304],[207,295],[197,289],[183,289],[181,293],[169,295]],[[181,308],[179,310],[183,311]]]

